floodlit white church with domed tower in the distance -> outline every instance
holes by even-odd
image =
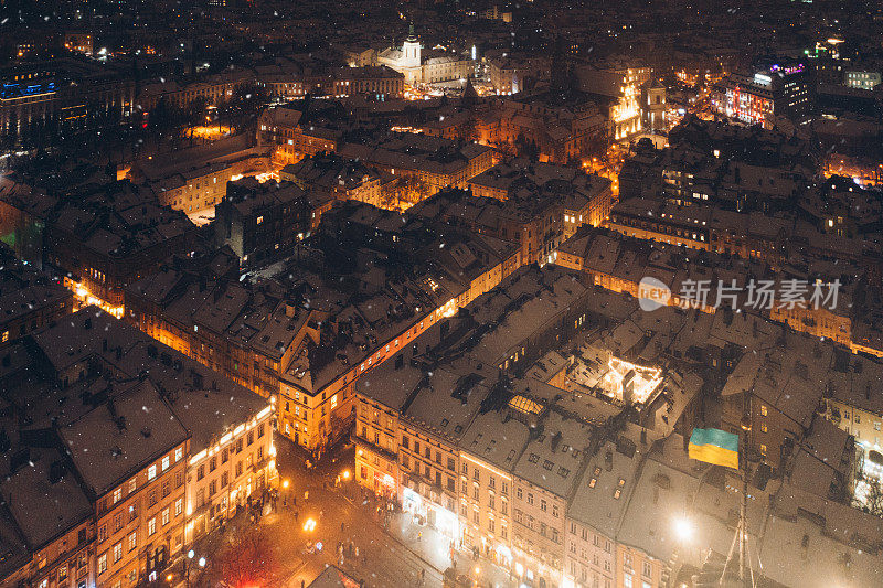
[[[390,47],[377,54],[377,64],[400,72],[405,76],[405,84],[409,86],[466,79],[475,71],[475,62],[468,54],[442,50],[423,51],[414,34],[413,24],[401,47]]]

